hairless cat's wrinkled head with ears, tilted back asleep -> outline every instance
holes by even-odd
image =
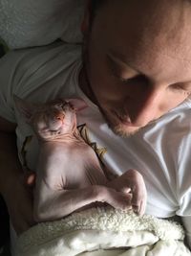
[[[76,129],[76,111],[86,107],[80,99],[53,100],[46,104],[34,105],[14,96],[17,109],[43,140],[49,140]]]

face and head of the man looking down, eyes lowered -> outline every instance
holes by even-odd
[[[85,48],[93,95],[109,126],[124,136],[191,92],[191,6],[143,2],[117,0],[102,7]]]

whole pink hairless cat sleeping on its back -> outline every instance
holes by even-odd
[[[32,105],[14,96],[16,107],[39,141],[34,188],[35,221],[61,219],[74,211],[108,203],[142,215],[146,188],[142,176],[129,170],[108,180],[95,151],[80,137],[76,111],[86,107],[79,99]]]

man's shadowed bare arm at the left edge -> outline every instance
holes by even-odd
[[[32,196],[24,186],[23,172],[17,156],[15,124],[0,117],[0,193],[8,206],[17,234],[32,223]]]

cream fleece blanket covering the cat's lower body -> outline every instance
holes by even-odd
[[[179,223],[111,207],[39,223],[18,239],[17,256],[190,256]]]

